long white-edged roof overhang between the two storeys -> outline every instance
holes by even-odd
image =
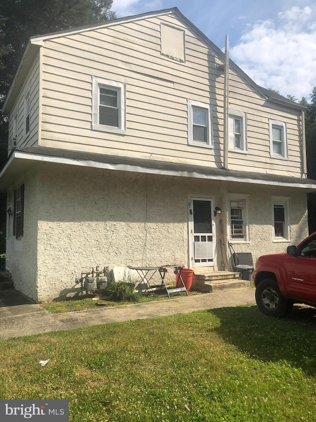
[[[170,169],[161,169],[161,168],[150,168],[141,165],[129,165],[129,164],[113,164],[113,163],[104,163],[100,161],[92,160],[79,160],[74,158],[64,158],[64,157],[54,157],[47,156],[42,154],[33,154],[29,152],[22,152],[13,150],[8,161],[4,165],[3,169],[0,172],[0,189],[5,190],[10,186],[6,181],[11,181],[9,177],[10,169],[14,166],[14,162],[17,160],[29,160],[30,165],[36,162],[44,163],[54,163],[54,164],[65,164],[65,165],[75,165],[81,167],[90,167],[98,168],[104,170],[118,170],[118,171],[127,171],[134,173],[145,173],[153,175],[164,175],[164,176],[178,176],[185,178],[197,178],[197,179],[207,179],[207,180],[217,180],[223,182],[238,182],[238,183],[250,183],[255,185],[270,185],[270,186],[279,186],[285,188],[305,188],[305,189],[316,189],[316,184],[313,183],[297,183],[297,182],[285,182],[285,181],[273,181],[265,179],[254,179],[251,177],[237,177],[230,175],[216,175],[216,174],[205,174],[199,172],[190,172],[182,170],[170,170]],[[2,183],[1,183],[2,182]]]

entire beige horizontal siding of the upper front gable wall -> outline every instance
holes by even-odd
[[[186,32],[186,61],[160,53],[160,23]],[[214,50],[173,15],[44,41],[41,145],[221,167],[223,72]],[[126,135],[92,131],[92,76],[126,84]],[[188,99],[211,104],[213,148],[188,145]],[[230,72],[230,108],[246,113],[248,153],[229,168],[300,176],[300,113],[268,103]],[[270,157],[269,119],[286,123],[288,160]]]

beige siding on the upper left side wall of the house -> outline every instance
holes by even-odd
[[[35,146],[38,143],[39,134],[39,96],[40,96],[40,57],[38,56],[26,81],[22,87],[20,95],[12,108],[9,116],[9,136],[10,140],[13,136],[13,120],[17,115],[17,146]],[[24,98],[27,91],[30,89],[30,133],[27,137],[24,136]]]

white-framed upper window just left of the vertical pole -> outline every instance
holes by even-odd
[[[213,144],[209,104],[188,100],[189,144],[211,147]]]

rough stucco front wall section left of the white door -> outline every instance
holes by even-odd
[[[219,193],[205,181],[47,164],[39,184],[39,300],[97,264],[187,266],[188,194]]]

